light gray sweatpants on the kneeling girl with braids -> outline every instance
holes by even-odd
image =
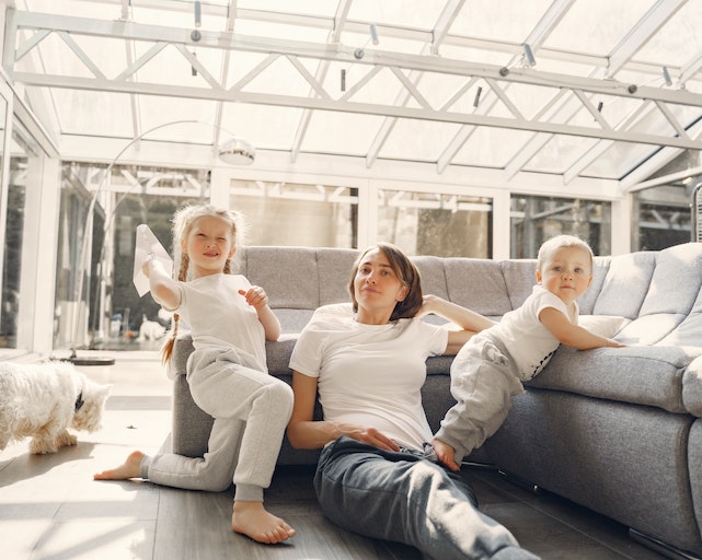
[[[244,360],[245,361],[245,360]],[[263,501],[292,412],[292,389],[246,368],[235,349],[195,350],[187,381],[193,400],[215,418],[204,457],[173,453],[145,457],[141,477],[188,490],[220,492],[235,485],[234,500]]]

